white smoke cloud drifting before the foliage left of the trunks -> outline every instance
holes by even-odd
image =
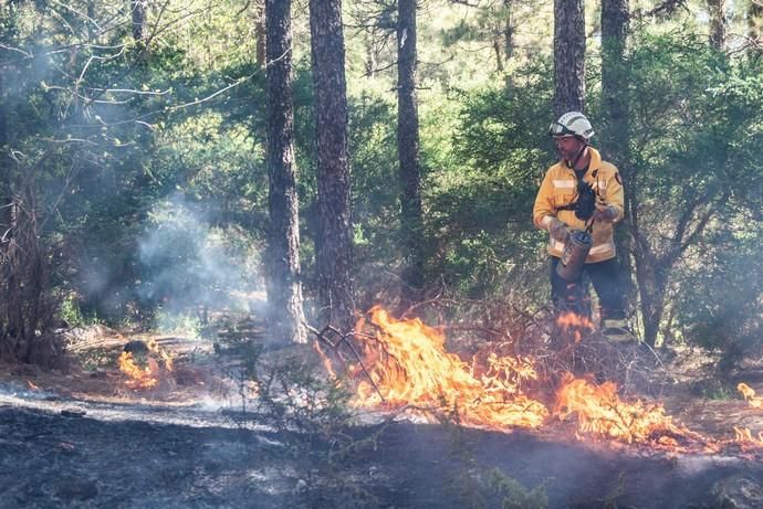
[[[245,232],[211,226],[192,209],[179,194],[157,203],[138,241],[138,296],[158,306],[159,328],[181,316],[250,311],[262,294],[260,253]]]

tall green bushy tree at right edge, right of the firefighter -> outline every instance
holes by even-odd
[[[760,343],[763,100],[752,62],[679,33],[644,35],[633,55],[638,234],[672,277],[681,336],[736,357]]]

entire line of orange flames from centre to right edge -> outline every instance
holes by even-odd
[[[346,371],[355,382],[357,406],[454,410],[462,424],[499,431],[537,428],[553,415],[574,420],[578,439],[614,439],[669,452],[718,453],[732,443],[763,446],[763,433],[755,438],[749,430],[735,428],[734,442],[705,437],[673,423],[661,404],[623,401],[615,382],[596,384],[571,373],[563,377],[554,401],[546,405],[523,391],[523,384],[539,378],[533,358],[499,356],[491,347],[468,363],[446,351],[440,329],[418,318],[397,320],[378,306],[369,314],[370,325],[362,319],[356,328],[360,361]],[[556,325],[592,327],[575,315],[564,316]],[[331,360],[316,347],[334,375]],[[761,401],[746,385],[741,384],[742,390],[749,401]]]

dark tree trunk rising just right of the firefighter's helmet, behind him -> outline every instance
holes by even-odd
[[[629,303],[635,301],[633,267],[630,263],[630,220],[627,214],[631,190],[630,180],[630,123],[628,110],[629,70],[626,62],[628,0],[602,1],[602,96],[603,121],[600,129],[602,153],[617,166],[626,193],[626,218],[617,229],[615,242],[620,262],[620,283]],[[630,308],[630,306],[626,305]]]

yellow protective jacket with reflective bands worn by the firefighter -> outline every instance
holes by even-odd
[[[614,223],[623,219],[623,180],[617,168],[602,160],[598,150],[588,147],[590,162],[583,179],[593,185],[596,192],[597,208],[615,205],[617,218]],[[535,197],[533,206],[533,223],[541,230],[548,230],[553,218],[567,224],[574,230],[585,230],[584,221],[575,218],[575,211],[558,210],[577,199],[577,179],[575,170],[566,161],[560,161],[548,168]],[[614,258],[615,240],[613,237],[614,223],[595,221],[593,226],[594,244],[585,258],[586,263],[604,262]],[[548,254],[561,257],[564,244],[550,236]]]

